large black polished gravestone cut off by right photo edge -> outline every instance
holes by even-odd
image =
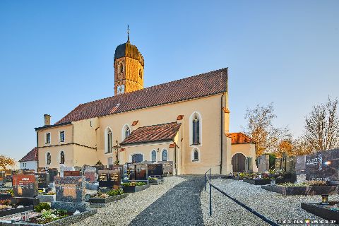
[[[306,179],[339,182],[339,149],[306,156]]]

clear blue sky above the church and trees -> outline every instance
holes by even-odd
[[[43,114],[58,121],[114,95],[114,49],[145,59],[145,87],[229,67],[230,129],[274,102],[302,133],[311,106],[339,97],[339,1],[0,1],[0,153],[20,160]]]

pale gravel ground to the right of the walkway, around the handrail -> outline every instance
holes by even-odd
[[[302,202],[321,201],[321,196],[283,196],[261,189],[261,186],[232,179],[213,179],[212,184],[273,221],[321,220],[300,207]],[[206,191],[201,193],[201,208],[205,225],[268,225],[229,198],[222,196],[215,189],[212,189],[212,197],[213,215],[209,217],[209,193]],[[329,201],[338,199],[339,195],[328,197]]]

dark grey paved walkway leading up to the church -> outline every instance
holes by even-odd
[[[187,179],[145,208],[130,225],[203,225],[200,194],[203,176],[182,176]]]

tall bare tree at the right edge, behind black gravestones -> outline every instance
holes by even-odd
[[[328,97],[305,117],[304,140],[314,152],[339,147],[338,99]]]

